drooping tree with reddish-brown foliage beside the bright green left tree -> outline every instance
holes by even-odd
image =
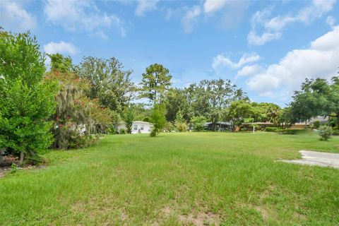
[[[69,57],[60,54],[57,54],[57,57],[52,54],[50,57],[52,66],[51,71],[47,73],[47,80],[58,83],[58,92],[55,95],[57,107],[53,115],[52,129],[54,148],[84,148],[95,143],[100,133],[105,133],[111,123],[112,112],[100,107],[97,99],[91,100],[85,95],[90,84],[73,71]],[[63,66],[68,64],[71,66]]]

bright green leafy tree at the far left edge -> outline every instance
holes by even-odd
[[[44,153],[52,143],[55,84],[44,82],[44,54],[30,33],[0,37],[0,150],[19,157]]]

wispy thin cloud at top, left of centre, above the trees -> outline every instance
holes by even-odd
[[[124,23],[115,15],[100,11],[94,1],[52,1],[44,6],[47,21],[70,31],[84,30],[95,33],[115,26],[121,36],[126,35]],[[102,32],[103,33],[103,32]],[[105,35],[105,34],[104,34]]]

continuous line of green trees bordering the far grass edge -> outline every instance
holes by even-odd
[[[47,71],[44,62],[51,59]],[[276,126],[317,115],[338,118],[338,77],[333,83],[307,80],[293,102],[282,109],[273,103],[251,102],[230,80],[212,79],[186,88],[172,87],[172,75],[161,64],[151,64],[141,83],[131,81],[132,70],[112,57],[71,57],[40,52],[29,32],[0,32],[0,163],[2,156],[18,157],[20,164],[37,162],[47,148],[83,148],[103,133],[117,133],[124,121],[150,121],[160,131],[202,131],[206,122],[270,121]],[[136,102],[144,100],[147,102]],[[304,106],[307,106],[305,108]]]

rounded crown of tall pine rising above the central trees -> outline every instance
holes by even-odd
[[[161,64],[151,64],[143,73],[141,85],[141,97],[148,98],[154,105],[156,103],[162,104],[165,99],[165,93],[169,88],[172,76],[169,70]]]

